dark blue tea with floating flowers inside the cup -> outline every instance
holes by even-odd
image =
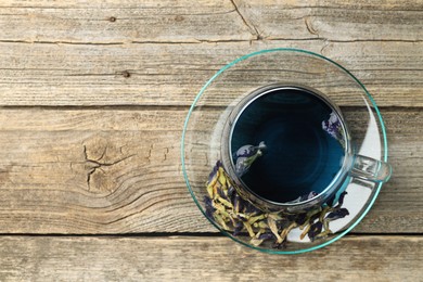
[[[274,203],[322,192],[344,158],[336,113],[322,97],[299,87],[254,95],[238,114],[230,138],[232,164],[246,190]]]

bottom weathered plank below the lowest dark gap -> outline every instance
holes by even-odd
[[[422,236],[347,236],[264,254],[227,238],[0,238],[2,281],[420,281]]]

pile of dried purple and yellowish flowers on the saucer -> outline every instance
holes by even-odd
[[[265,241],[274,241],[273,247],[284,247],[287,234],[299,227],[303,231],[300,239],[308,235],[311,241],[332,233],[329,222],[347,216],[346,208],[341,208],[346,192],[335,200],[328,201],[321,207],[304,213],[265,213],[248,201],[242,198],[221,163],[218,162],[207,182],[208,196],[204,197],[206,216],[234,236],[249,235],[251,244],[258,246]],[[323,231],[322,231],[323,230]],[[247,233],[244,233],[247,232]]]

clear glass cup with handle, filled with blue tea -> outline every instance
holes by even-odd
[[[305,86],[270,84],[231,111],[221,162],[244,200],[262,210],[303,213],[336,201],[352,178],[389,179],[390,165],[360,155],[354,140],[326,95]]]

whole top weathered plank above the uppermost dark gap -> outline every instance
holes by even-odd
[[[235,57],[294,47],[343,64],[380,105],[422,106],[422,15],[421,1],[392,0],[8,0],[0,105],[189,105]]]

